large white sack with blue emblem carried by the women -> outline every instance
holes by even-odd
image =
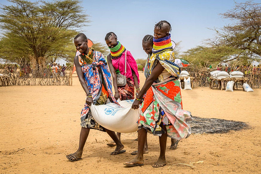
[[[108,103],[91,105],[92,116],[102,127],[115,132],[131,133],[138,131],[140,109],[131,109],[134,100],[119,101],[119,105]]]

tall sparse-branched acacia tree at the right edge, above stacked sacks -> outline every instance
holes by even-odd
[[[215,48],[229,47],[230,60],[261,58],[261,6],[260,3],[247,1],[235,3],[235,7],[221,14],[225,19],[233,20],[233,25],[224,26],[217,31],[217,37],[209,40]]]

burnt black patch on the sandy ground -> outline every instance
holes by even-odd
[[[192,117],[192,119],[193,120],[188,123],[193,134],[223,134],[231,130],[238,131],[249,128],[249,126],[244,122],[224,119],[206,119],[200,117]]]

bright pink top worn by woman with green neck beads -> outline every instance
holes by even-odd
[[[135,59],[133,58],[133,56],[131,55],[130,51],[127,51],[127,66],[126,66],[126,74],[124,73],[124,69],[125,69],[125,52],[122,53],[121,57],[117,58],[117,59],[111,59],[112,61],[112,65],[114,67],[114,69],[119,69],[120,73],[122,75],[125,75],[127,78],[130,78],[133,81],[133,76],[132,76],[132,72],[131,69],[135,72],[137,78],[138,78],[138,83],[139,83],[139,73],[138,73],[138,65],[135,61]]]

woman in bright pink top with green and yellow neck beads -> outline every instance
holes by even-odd
[[[117,41],[117,36],[113,32],[107,33],[105,36],[105,42],[109,46],[110,54],[107,55],[107,63],[110,67],[110,73],[113,77],[113,87],[115,89],[114,98],[118,100],[131,100],[134,99],[134,86],[136,93],[139,93],[139,73],[138,66],[131,55],[130,51],[127,51],[125,47]],[[127,54],[127,64],[125,73],[125,54]],[[126,76],[126,85],[117,86],[117,74]],[[120,140],[121,133],[117,133],[117,137]],[[108,143],[108,146],[116,146],[114,142]]]

